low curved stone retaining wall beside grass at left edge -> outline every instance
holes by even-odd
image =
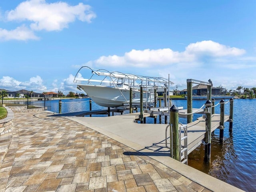
[[[14,113],[8,107],[5,107],[7,110],[7,117],[0,120],[0,135],[11,132],[13,127],[13,118]]]

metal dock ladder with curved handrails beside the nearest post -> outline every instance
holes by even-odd
[[[171,146],[167,145],[167,129],[170,127],[170,124],[166,126],[165,129],[165,146],[166,148],[169,148],[171,150],[171,156],[172,156],[172,142],[170,143]],[[184,136],[181,137],[181,131],[184,130]],[[172,133],[172,126],[171,126],[171,133]],[[172,135],[170,136],[172,138]],[[182,125],[179,128],[179,139],[180,139],[180,161],[184,164],[188,164],[188,126]],[[181,142],[184,140],[184,145],[181,144]],[[182,161],[183,160],[183,161]]]

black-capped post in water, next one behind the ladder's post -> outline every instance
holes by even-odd
[[[204,161],[209,163],[211,158],[211,128],[212,128],[212,102],[206,101],[204,112],[206,113],[205,122],[205,150],[204,150]]]

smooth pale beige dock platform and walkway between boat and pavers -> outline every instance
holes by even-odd
[[[139,124],[140,113],[123,114],[110,117],[69,117],[98,132],[122,143],[136,151],[148,151],[159,156],[170,156],[170,149],[165,146],[165,130],[168,124]],[[144,113],[144,117],[157,116]],[[225,122],[229,116],[225,115]],[[205,119],[202,117],[187,124],[188,126],[188,154],[198,147],[205,137]],[[220,126],[220,114],[212,114],[212,131]],[[170,131],[168,130],[170,137]],[[170,140],[170,138],[168,138]],[[170,144],[170,141],[169,141]]]

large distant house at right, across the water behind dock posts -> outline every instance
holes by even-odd
[[[187,89],[181,90],[180,94],[181,95],[186,95],[188,93]],[[198,84],[192,88],[192,94],[193,95],[207,95],[207,85],[201,85]],[[212,87],[212,95],[225,95],[226,94],[226,89],[225,88],[220,88],[220,87]]]

